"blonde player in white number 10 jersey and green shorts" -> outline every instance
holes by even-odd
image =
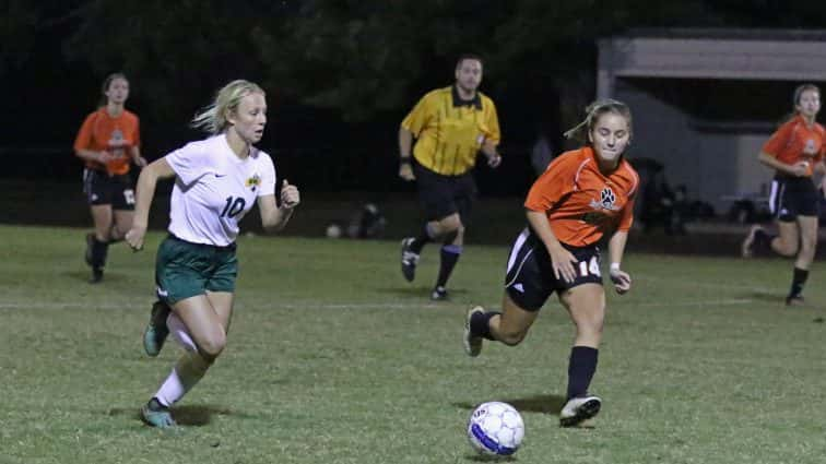
[[[275,199],[275,168],[256,148],[267,126],[267,98],[257,84],[233,81],[192,126],[210,136],[150,164],[138,179],[135,213],[126,236],[143,248],[150,205],[160,179],[175,179],[169,235],[157,250],[153,307],[144,348],[157,355],[168,333],[186,353],[141,408],[153,427],[175,426],[170,407],[198,383],[226,346],[238,273],[238,223],[258,204],[267,230],[280,230],[300,199],[286,179]]]

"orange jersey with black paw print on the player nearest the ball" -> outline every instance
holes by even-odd
[[[565,152],[533,182],[524,207],[547,215],[557,240],[574,247],[599,241],[606,231],[634,222],[637,171],[622,159],[605,176],[591,147]]]

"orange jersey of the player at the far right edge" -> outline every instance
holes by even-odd
[[[810,162],[809,176],[812,175],[812,162],[823,159],[826,131],[815,122],[806,126],[802,116],[798,115],[780,126],[771,138],[763,145],[763,152],[777,160],[793,165],[799,162]]]

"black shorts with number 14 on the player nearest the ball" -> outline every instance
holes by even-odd
[[[574,264],[577,277],[571,283],[554,276],[545,245],[529,228],[516,239],[508,257],[505,292],[520,308],[539,311],[554,292],[563,293],[582,284],[602,285],[600,249],[597,245],[580,248],[563,243],[563,247],[578,261]]]

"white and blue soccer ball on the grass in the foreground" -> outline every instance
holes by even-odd
[[[492,401],[482,403],[468,421],[468,440],[474,450],[493,456],[516,453],[524,437],[524,423],[514,406]]]

